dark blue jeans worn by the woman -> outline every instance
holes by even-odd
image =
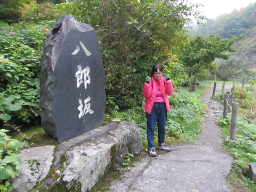
[[[154,145],[154,130],[156,128],[156,122],[158,126],[158,145],[164,145],[165,137],[165,124],[167,119],[167,110],[165,104],[154,103],[150,114],[146,114],[147,118],[147,137],[148,137],[148,149],[155,149]]]

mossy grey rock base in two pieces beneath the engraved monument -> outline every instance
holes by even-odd
[[[21,152],[22,172],[13,182],[15,192],[30,191],[36,182],[42,182],[46,175],[51,176],[53,173],[48,172],[52,163],[54,170],[60,170],[59,179],[56,180],[53,174],[52,178],[43,181],[40,186],[48,191],[55,184],[61,183],[68,191],[72,188],[74,191],[86,192],[108,169],[120,166],[128,152],[139,154],[142,151],[142,140],[136,124],[128,121],[120,124],[110,122],[60,143],[58,151],[54,152],[55,162],[52,162],[53,149],[54,146],[42,146]],[[64,157],[62,162],[60,157]],[[31,162],[34,162],[33,167]],[[38,168],[34,170],[34,166]]]

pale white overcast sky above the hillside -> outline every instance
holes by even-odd
[[[198,10],[204,12],[208,19],[214,19],[234,9],[245,8],[256,0],[188,0],[188,2],[201,3],[204,7],[200,6]]]

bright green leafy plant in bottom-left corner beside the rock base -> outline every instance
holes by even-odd
[[[0,129],[0,191],[12,191],[12,184],[9,178],[16,178],[18,171],[21,170],[20,155],[18,153],[24,146],[18,140],[10,138],[5,132],[8,130]]]

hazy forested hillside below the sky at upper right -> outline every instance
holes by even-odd
[[[241,36],[242,38],[233,44],[236,52],[230,54],[230,60],[226,62],[236,63],[236,71],[247,69],[246,73],[251,74],[253,70],[248,68],[256,66],[256,3],[246,8],[234,10],[230,14],[224,14],[215,20],[208,20],[204,26],[189,31],[191,36],[207,36],[210,34],[222,38]],[[242,64],[242,65],[241,65]],[[238,65],[240,67],[238,67]],[[244,70],[242,70],[244,71]]]

